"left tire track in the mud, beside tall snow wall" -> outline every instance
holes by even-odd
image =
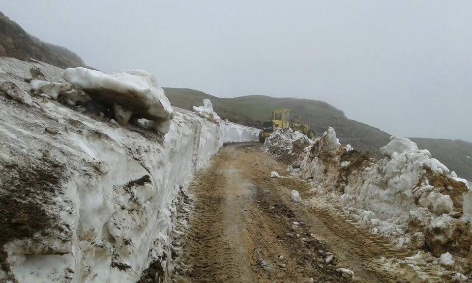
[[[221,172],[228,156],[220,154],[189,187],[194,198],[190,227],[182,246],[181,265],[188,267],[180,282],[248,282],[244,257],[228,233],[227,178]],[[177,281],[178,282],[178,281]]]

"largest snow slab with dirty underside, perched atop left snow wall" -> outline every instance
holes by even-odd
[[[143,70],[114,74],[83,67],[67,68],[62,78],[94,98],[113,105],[117,103],[133,112],[133,117],[149,120],[172,119],[174,110],[156,78]]]

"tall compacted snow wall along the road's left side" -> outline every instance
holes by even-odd
[[[29,90],[35,65],[61,82],[51,65],[5,62],[0,82]],[[258,140],[258,129],[177,108],[162,136],[33,100],[0,94],[1,282],[135,283],[155,261],[167,272],[179,192],[225,142]]]

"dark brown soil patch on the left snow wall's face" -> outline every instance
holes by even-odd
[[[14,240],[32,237],[50,226],[44,203],[48,194],[55,193],[64,173],[63,165],[50,160],[40,164],[0,164],[0,266],[8,272],[3,245]]]

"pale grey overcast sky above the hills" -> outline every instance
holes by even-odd
[[[103,71],[220,97],[324,100],[404,137],[472,141],[470,0],[8,0],[29,33]]]

